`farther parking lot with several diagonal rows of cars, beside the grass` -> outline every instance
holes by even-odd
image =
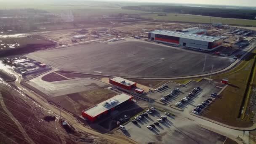
[[[154,101],[160,101],[160,99],[163,98],[163,96],[166,96],[168,95],[168,93],[170,93],[174,89],[179,88],[179,91],[176,91],[175,93],[171,94],[171,96],[168,96],[168,98],[165,101],[163,101],[165,105],[160,104],[160,107],[162,107],[163,109],[166,109],[171,106],[172,108],[180,109],[181,111],[183,110],[183,112],[185,113],[192,112],[193,109],[195,109],[195,107],[197,107],[198,104],[202,104],[203,101],[209,98],[213,99],[210,96],[210,94],[218,93],[219,91],[221,91],[221,87],[224,86],[224,84],[221,84],[219,82],[211,82],[211,84],[209,84],[209,80],[205,80],[205,79],[201,80],[199,83],[196,81],[191,81],[184,86],[181,86],[173,82],[169,82],[166,85],[168,87],[165,87],[160,91],[153,91],[150,96],[151,99],[153,99]],[[190,99],[188,99],[188,101],[182,101],[183,104],[180,105],[179,107],[176,107],[175,104],[181,101],[181,99],[185,98],[185,96],[189,95],[189,93],[192,92],[192,90],[195,87],[200,87],[200,90],[198,90],[197,92],[194,92],[192,96],[189,96]],[[153,103],[156,103],[156,102],[153,102]],[[211,101],[209,101],[209,104],[210,103]],[[207,105],[205,107],[207,107]]]

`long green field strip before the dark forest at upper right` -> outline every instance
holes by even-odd
[[[143,14],[140,16],[142,18],[146,18],[146,19],[154,19],[154,20],[162,20],[162,21],[210,23],[210,16],[176,14],[176,13],[167,13],[167,16],[158,16],[157,14]],[[248,20],[248,19],[229,19],[229,18],[211,17],[211,22],[212,23],[220,22],[223,24],[256,26],[256,20]]]

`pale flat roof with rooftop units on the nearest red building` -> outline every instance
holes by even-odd
[[[100,115],[103,112],[106,112],[109,109],[112,109],[113,107],[116,107],[119,104],[122,104],[123,102],[125,102],[131,98],[132,98],[132,96],[121,93],[121,94],[116,95],[106,101],[102,101],[101,103],[99,103],[93,107],[85,109],[85,110],[83,110],[83,112],[86,113],[87,115],[90,115],[91,117],[95,117],[97,115]]]

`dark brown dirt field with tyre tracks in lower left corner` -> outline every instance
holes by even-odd
[[[44,120],[45,116],[55,116],[51,111],[39,107],[31,99],[3,83],[0,84],[0,93],[1,143],[81,144],[76,139],[81,138],[83,134],[68,134],[58,120]],[[85,137],[93,138],[86,134]]]

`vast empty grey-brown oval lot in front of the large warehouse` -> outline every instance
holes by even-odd
[[[133,46],[135,45],[135,46]],[[27,57],[61,70],[132,77],[176,77],[224,69],[232,60],[140,41],[91,43],[37,51]]]

